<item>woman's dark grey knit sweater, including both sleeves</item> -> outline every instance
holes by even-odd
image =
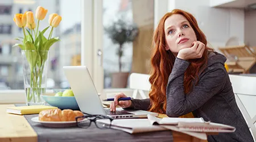
[[[166,114],[177,117],[192,112],[197,118],[236,127],[233,133],[209,135],[208,141],[253,141],[249,127],[237,106],[229,75],[225,70],[226,57],[217,52],[209,54],[207,68],[199,82],[187,95],[184,94],[184,73],[189,62],[175,60],[166,89]],[[148,110],[150,99],[133,99],[129,109]]]

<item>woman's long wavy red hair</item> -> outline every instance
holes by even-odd
[[[195,31],[197,41],[201,41],[207,45],[207,39],[204,33],[200,30],[195,17],[183,10],[175,9],[168,12],[160,19],[158,27],[154,32],[153,37],[153,49],[151,55],[151,73],[149,81],[151,83],[150,97],[150,110],[158,113],[166,113],[166,86],[168,83],[168,77],[172,72],[174,66],[175,56],[170,50],[166,51],[164,47],[167,46],[166,37],[164,34],[164,22],[168,17],[173,14],[183,15],[191,27]],[[191,64],[188,66],[184,74],[184,93],[188,94],[193,89],[193,82],[197,83],[196,79],[199,76],[204,65],[207,64],[208,51],[212,49],[206,47],[203,56],[200,59],[189,60]]]

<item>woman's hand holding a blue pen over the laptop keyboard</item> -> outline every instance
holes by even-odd
[[[118,101],[119,98],[125,98],[127,97],[125,94],[120,93],[115,95],[114,101],[110,104],[110,111],[115,112],[115,108],[117,106],[120,106],[122,108],[130,107],[131,106],[131,100],[128,101]]]

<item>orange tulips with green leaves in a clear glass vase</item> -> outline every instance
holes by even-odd
[[[39,31],[39,23],[46,17],[48,10],[39,6],[36,9],[35,23],[32,11],[24,14],[15,14],[14,22],[23,30],[24,37],[19,37],[20,43],[14,45],[22,49],[22,64],[24,74],[24,88],[26,91],[27,105],[42,105],[41,94],[46,91],[47,66],[49,48],[59,41],[59,37],[52,37],[53,29],[59,26],[61,16],[58,14],[49,15],[49,26]],[[51,28],[48,36],[44,33]],[[36,30],[35,30],[36,29]]]

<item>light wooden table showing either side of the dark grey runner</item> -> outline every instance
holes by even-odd
[[[23,115],[13,115],[6,112],[6,107],[12,106],[14,105],[0,105],[0,142],[38,141],[38,135]],[[172,135],[174,141],[204,141],[175,131],[172,132]]]

